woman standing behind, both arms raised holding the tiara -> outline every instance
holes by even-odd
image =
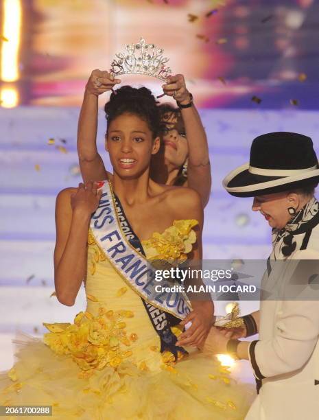
[[[94,70],[86,84],[78,125],[78,154],[84,182],[106,178],[96,145],[98,97],[119,82],[107,71]],[[152,156],[150,176],[158,183],[195,189],[205,207],[211,193],[211,165],[202,121],[183,75],[169,76],[163,91],[174,97],[179,108],[159,106],[161,148]],[[108,177],[112,177],[110,172]]]

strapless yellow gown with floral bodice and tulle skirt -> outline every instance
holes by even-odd
[[[167,237],[174,246],[174,235],[165,239],[169,252]],[[155,234],[142,242],[146,257],[160,239]],[[61,420],[244,419],[252,386],[237,384],[217,359],[199,351],[187,349],[177,363],[172,353],[160,353],[141,297],[91,233],[85,288],[86,312],[73,324],[47,325],[51,332],[43,340],[19,346],[16,363],[0,375],[0,405],[52,406],[53,418]]]

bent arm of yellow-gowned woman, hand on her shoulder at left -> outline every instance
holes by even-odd
[[[72,306],[86,272],[86,243],[91,213],[100,192],[93,183],[62,190],[56,198],[54,284],[60,303]]]

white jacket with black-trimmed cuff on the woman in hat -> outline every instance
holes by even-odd
[[[265,273],[262,288],[272,288],[274,281],[285,288],[296,259],[319,260],[319,226],[307,249],[290,256],[285,272]],[[250,343],[249,351],[262,385],[245,420],[319,420],[318,336],[319,300],[261,301],[259,340]]]

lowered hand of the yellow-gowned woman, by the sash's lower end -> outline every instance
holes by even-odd
[[[186,325],[191,321],[191,327],[178,336],[176,345],[198,347],[209,334],[212,320],[213,305],[205,305],[202,303],[199,307],[194,308],[194,310],[180,323],[181,325]]]

